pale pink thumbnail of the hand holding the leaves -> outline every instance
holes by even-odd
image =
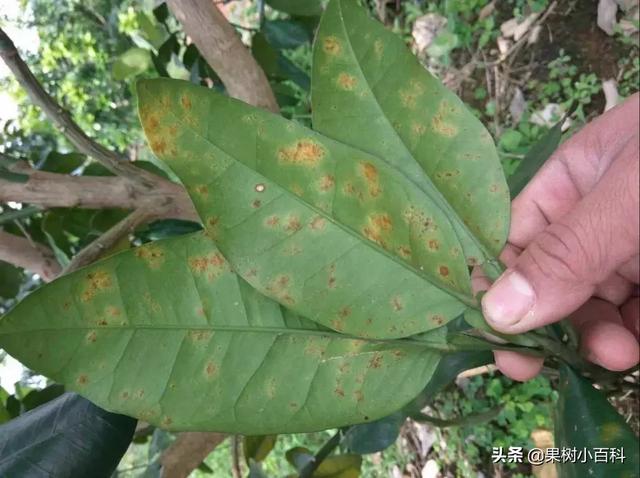
[[[482,311],[489,322],[511,326],[531,312],[535,301],[536,294],[529,281],[516,271],[507,271],[482,298]]]

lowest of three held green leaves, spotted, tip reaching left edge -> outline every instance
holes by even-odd
[[[258,294],[198,232],[41,287],[0,320],[0,346],[106,410],[169,430],[268,434],[402,407],[431,377],[442,330],[374,341],[320,327]]]

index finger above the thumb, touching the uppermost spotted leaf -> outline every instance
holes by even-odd
[[[509,242],[526,247],[593,189],[624,145],[637,135],[633,95],[566,141],[512,203]]]

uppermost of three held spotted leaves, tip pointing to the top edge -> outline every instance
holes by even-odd
[[[509,190],[491,136],[353,0],[322,17],[312,103],[314,129],[383,158],[446,212],[469,264],[501,251]]]

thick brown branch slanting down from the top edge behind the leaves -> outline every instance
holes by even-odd
[[[277,113],[267,76],[213,0],[167,0],[230,96]]]

